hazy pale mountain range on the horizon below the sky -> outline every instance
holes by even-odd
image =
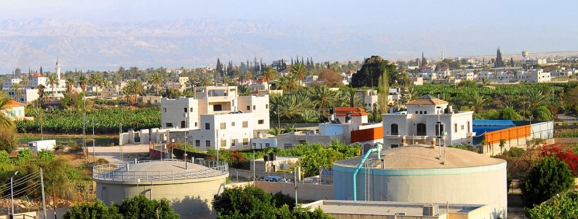
[[[263,58],[313,57],[318,61],[360,60],[371,55],[386,59],[491,55],[496,42],[477,39],[475,30],[455,44],[443,45],[443,30],[402,28],[384,23],[324,25],[253,20],[80,21],[64,18],[0,20],[0,73],[14,68],[53,71],[57,58],[63,70],[115,70],[123,66],[180,67]],[[456,35],[454,35],[456,37]],[[544,35],[536,34],[536,40]],[[472,42],[476,42],[473,46]],[[520,44],[525,44],[521,42]],[[479,44],[488,44],[480,48]],[[556,46],[551,44],[551,46]],[[487,48],[486,48],[487,47]],[[523,46],[501,46],[518,53]],[[531,51],[534,52],[534,51]],[[515,54],[514,53],[514,54]]]

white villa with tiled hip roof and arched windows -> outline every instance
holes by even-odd
[[[408,102],[406,106],[407,114],[382,114],[386,147],[399,147],[408,143],[472,143],[472,111],[459,112],[445,100],[430,95]]]

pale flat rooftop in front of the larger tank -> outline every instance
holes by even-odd
[[[438,205],[439,215],[445,215],[446,203],[434,203]],[[311,209],[321,208],[327,214],[357,214],[373,216],[393,216],[404,212],[406,216],[423,216],[423,206],[432,203],[406,203],[394,201],[340,201],[321,200],[308,203],[302,207]],[[449,204],[449,213],[469,214],[470,211],[484,207],[485,205]]]

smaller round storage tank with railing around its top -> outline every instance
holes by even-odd
[[[117,162],[93,167],[96,198],[121,203],[125,197],[144,194],[168,199],[181,218],[216,218],[213,196],[222,192],[228,177],[226,162],[193,164],[182,160]]]

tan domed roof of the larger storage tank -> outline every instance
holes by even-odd
[[[505,160],[488,158],[472,151],[450,147],[441,148],[431,145],[409,145],[392,149],[383,149],[381,159],[384,165],[373,164],[374,169],[451,169],[473,166],[488,166],[501,164]],[[356,168],[363,156],[347,160],[339,160],[334,165]],[[445,162],[444,162],[445,158]],[[368,159],[377,159],[377,153],[369,155]]]

